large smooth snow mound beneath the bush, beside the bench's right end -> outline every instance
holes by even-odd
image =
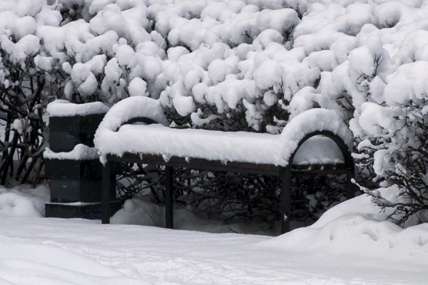
[[[380,190],[391,195],[395,187]],[[362,195],[338,204],[325,212],[312,226],[295,229],[269,241],[266,247],[296,252],[331,252],[366,257],[406,253],[408,258],[428,254],[428,224],[402,229],[387,222],[388,212],[379,212],[371,198]]]

